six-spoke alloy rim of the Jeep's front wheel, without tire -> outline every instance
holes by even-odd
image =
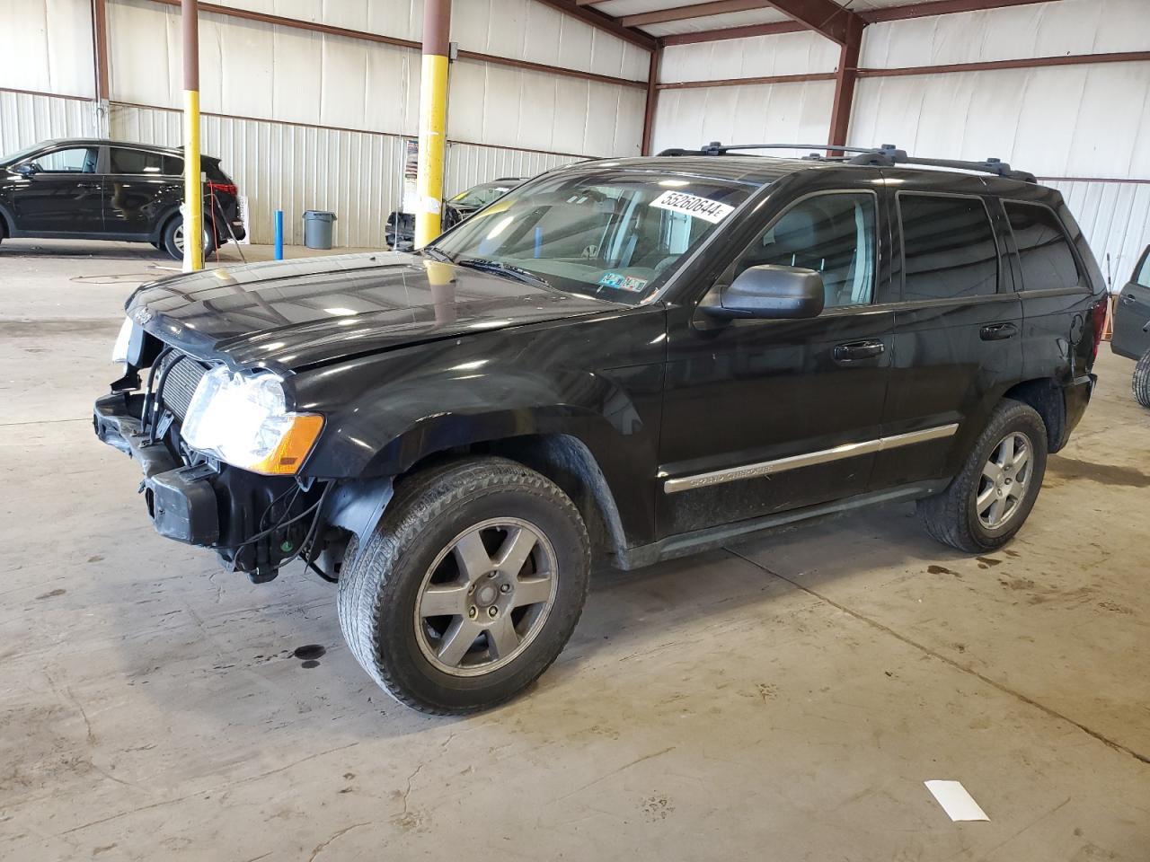
[[[439,552],[420,586],[420,651],[452,676],[481,676],[514,661],[555,600],[558,565],[543,531],[520,518],[468,528]]]

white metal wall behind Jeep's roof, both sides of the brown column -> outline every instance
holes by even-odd
[[[1147,0],[1059,0],[872,24],[864,68],[1145,51]],[[814,41],[812,41],[814,40]],[[668,47],[660,80],[834,71],[837,48],[796,33]],[[848,143],[920,155],[997,156],[1048,177],[1150,179],[1150,63],[1080,64],[859,80]],[[665,90],[654,147],[827,140],[827,82]],[[1118,284],[1150,243],[1150,185],[1051,182]]]

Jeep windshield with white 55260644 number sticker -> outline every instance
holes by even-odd
[[[515,267],[562,291],[636,305],[752,190],[674,174],[560,172],[512,190],[435,248],[455,261]]]

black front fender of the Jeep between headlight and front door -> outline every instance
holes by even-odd
[[[397,476],[459,447],[547,434],[582,442],[627,531],[653,525],[665,314],[636,309],[439,341],[297,375],[296,409],[327,425],[304,465],[321,479]],[[578,368],[586,362],[588,368]]]

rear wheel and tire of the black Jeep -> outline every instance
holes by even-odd
[[[994,551],[1026,523],[1045,472],[1045,423],[1029,405],[1006,399],[961,472],[941,494],[919,500],[919,516],[944,545],[971,554]]]

